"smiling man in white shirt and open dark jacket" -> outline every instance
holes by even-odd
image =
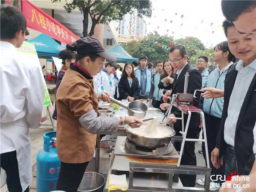
[[[230,51],[240,60],[230,67],[225,79],[222,125],[212,151],[212,164],[218,169],[228,148],[226,175],[230,172],[248,175],[254,162],[256,42],[240,34],[232,22],[224,21],[223,27]]]

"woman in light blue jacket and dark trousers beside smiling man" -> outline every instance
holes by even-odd
[[[224,81],[227,74],[227,70],[229,67],[233,65],[233,62],[236,62],[236,57],[230,52],[227,41],[221,42],[215,46],[213,52],[213,61],[218,63],[218,67],[209,74],[206,84],[204,87],[215,87],[217,89],[224,90]],[[202,144],[202,151],[204,155],[204,159],[206,161],[206,155],[211,158],[211,152],[215,148],[216,145],[216,137],[219,132],[219,128],[221,127],[221,116],[224,105],[224,98],[216,98],[216,99],[204,99],[203,109],[204,109],[204,118],[207,132],[207,147],[208,154],[205,151],[205,145]],[[204,138],[204,134],[203,134]],[[219,169],[215,169],[212,166],[212,162],[210,161],[210,167],[212,168],[211,175],[223,175],[225,174],[225,163]],[[223,181],[219,180],[218,177],[212,176],[217,183],[223,183]],[[199,185],[204,185],[204,178],[198,179],[197,183]],[[213,183],[214,184],[214,183]],[[217,190],[219,187],[214,187],[211,185],[210,190]]]

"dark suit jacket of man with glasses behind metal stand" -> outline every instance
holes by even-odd
[[[181,71],[179,77],[176,79],[177,74],[175,74],[175,79],[173,82],[172,95],[176,93],[184,93],[184,84],[185,84],[185,74],[189,73],[189,83],[187,93],[194,94],[195,90],[202,88],[202,76],[197,68],[192,67],[190,64],[186,64],[186,66]],[[196,94],[197,98],[194,100],[194,106],[198,108],[200,93]],[[177,108],[172,108],[172,113],[176,117],[181,117],[181,111]],[[186,125],[187,115],[184,114],[184,126]],[[189,130],[195,130],[198,132],[200,125],[200,115],[198,113],[192,113]],[[182,130],[181,120],[177,120],[174,124],[174,128],[176,133]]]

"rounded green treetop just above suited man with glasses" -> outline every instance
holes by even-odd
[[[205,49],[204,44],[198,38],[194,38],[194,37],[177,39],[175,40],[175,42],[176,42],[176,45],[177,44],[184,45],[186,47],[187,55],[190,55],[190,56],[196,55],[198,50]]]

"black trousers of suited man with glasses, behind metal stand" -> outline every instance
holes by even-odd
[[[174,126],[175,126],[175,124],[174,124]],[[181,136],[181,134],[179,132],[180,130],[175,130],[175,131],[176,131],[177,136]],[[198,139],[200,131],[201,131],[200,128],[192,129],[189,127],[186,138]],[[180,148],[181,148],[180,142],[175,143],[174,146],[177,151],[180,151]],[[193,141],[185,142],[184,153],[181,157],[180,165],[196,166],[195,142],[193,142]],[[186,186],[186,187],[194,187],[195,186],[196,175],[179,174],[179,177],[180,177],[180,181],[183,184],[183,186]]]

